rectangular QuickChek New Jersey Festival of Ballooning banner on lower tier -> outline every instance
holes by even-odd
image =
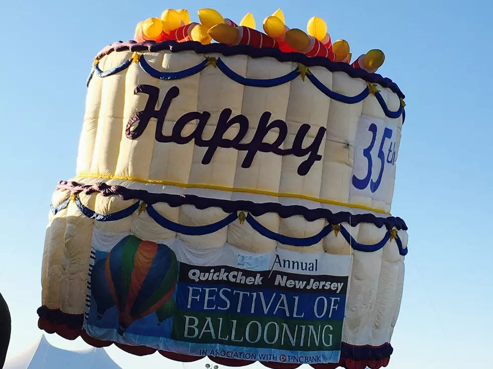
[[[188,355],[338,362],[350,257],[300,249],[198,250],[95,230],[85,330]]]

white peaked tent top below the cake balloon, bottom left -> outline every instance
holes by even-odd
[[[4,369],[121,369],[104,348],[69,351],[51,345],[43,335],[38,342],[7,360]]]

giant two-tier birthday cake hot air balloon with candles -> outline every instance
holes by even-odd
[[[386,366],[407,233],[390,215],[404,95],[321,18],[212,9],[95,58],[58,183],[39,327],[94,346],[273,368]]]

